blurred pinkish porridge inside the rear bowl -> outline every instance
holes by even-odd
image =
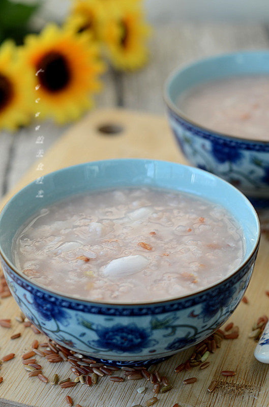
[[[193,86],[180,96],[178,106],[190,120],[208,129],[269,141],[269,75]]]

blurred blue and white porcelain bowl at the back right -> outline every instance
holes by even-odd
[[[269,142],[206,129],[186,117],[178,97],[199,83],[234,75],[269,75],[269,51],[214,56],[177,69],[165,85],[168,119],[178,146],[196,167],[240,189],[257,207],[269,207]],[[269,129],[268,129],[269,140]]]

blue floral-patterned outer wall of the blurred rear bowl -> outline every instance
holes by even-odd
[[[182,152],[191,164],[215,173],[228,181],[249,199],[263,198],[264,188],[269,192],[269,143],[238,141],[218,136],[187,123],[169,109],[170,126]],[[253,193],[255,192],[255,195]]]

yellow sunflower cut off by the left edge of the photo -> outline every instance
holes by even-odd
[[[31,116],[34,81],[12,41],[0,48],[0,129],[16,130]]]

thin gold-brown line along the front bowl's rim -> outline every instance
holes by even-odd
[[[130,159],[123,158],[123,159],[114,159],[114,160],[117,160],[117,161],[119,160],[119,161],[120,161],[120,160],[134,160],[134,159],[132,159],[132,158],[130,158]],[[138,159],[138,160],[139,160],[139,159]],[[141,159],[141,160],[144,160],[144,159]],[[94,163],[98,163],[98,162],[100,162],[100,161],[105,161],[105,160],[89,161],[89,162],[94,164]],[[108,160],[107,160],[107,161],[108,161]],[[112,159],[111,161],[113,161],[113,159]],[[195,168],[195,167],[191,167],[191,166],[188,166],[188,165],[184,165],[184,164],[180,164],[180,163],[175,163],[175,162],[172,162],[172,161],[165,161],[165,160],[150,160],[150,161],[161,161],[161,162],[166,162],[166,163],[170,163],[170,164],[181,165],[181,166],[183,166],[183,167]],[[78,166],[78,165],[85,165],[85,163],[70,165],[69,167],[64,167],[64,168],[58,169],[58,170],[56,170],[56,171],[49,172],[49,173],[46,174],[44,177],[50,175],[51,173],[63,171],[63,170],[66,169],[66,168],[72,168],[72,167],[76,167],[76,166]],[[205,171],[205,170],[203,170],[203,169],[200,169],[200,168],[195,168],[195,169],[197,169],[198,171],[202,171],[202,172],[208,173],[207,171]],[[19,271],[19,270],[11,263],[11,261],[10,261],[10,260],[6,257],[6,255],[3,253],[1,246],[0,246],[0,255],[2,256],[2,258],[4,259],[4,261],[7,263],[7,265],[9,266],[9,268],[10,268],[15,274],[17,274],[20,278],[26,280],[27,282],[31,283],[31,284],[34,285],[35,287],[37,287],[37,288],[39,288],[39,289],[41,288],[41,289],[43,289],[44,291],[46,291],[47,293],[49,293],[49,294],[61,296],[61,297],[67,298],[67,299],[69,299],[69,300],[77,300],[77,301],[84,302],[84,303],[92,303],[92,304],[105,305],[105,306],[108,305],[108,306],[111,306],[111,307],[113,307],[113,306],[122,306],[122,305],[123,305],[123,306],[129,306],[129,307],[130,307],[130,306],[135,306],[135,307],[137,307],[137,306],[140,306],[140,305],[141,305],[141,306],[146,306],[146,305],[157,305],[157,304],[170,303],[170,302],[175,302],[175,301],[179,301],[179,300],[182,300],[182,299],[190,298],[190,297],[192,297],[193,295],[202,294],[202,293],[204,293],[205,291],[207,291],[207,290],[210,289],[210,288],[217,287],[218,285],[220,285],[220,284],[222,284],[223,282],[227,281],[230,277],[234,276],[234,275],[237,274],[239,271],[241,271],[241,270],[247,265],[247,263],[248,263],[248,261],[250,260],[250,258],[253,256],[253,254],[255,253],[255,251],[256,251],[256,249],[257,249],[257,247],[259,247],[260,238],[261,238],[261,227],[260,227],[259,217],[258,217],[258,214],[257,214],[255,208],[253,207],[252,203],[248,200],[248,198],[247,198],[240,190],[238,190],[237,188],[235,188],[233,185],[231,185],[231,184],[228,183],[227,181],[225,181],[225,180],[223,180],[222,178],[216,176],[215,174],[211,174],[211,173],[209,173],[209,174],[212,175],[213,177],[216,177],[217,179],[221,180],[221,181],[224,182],[225,184],[228,184],[230,188],[235,189],[237,193],[239,193],[240,195],[242,195],[242,196],[244,197],[244,199],[247,200],[247,202],[248,202],[248,204],[251,206],[251,208],[252,208],[252,210],[253,210],[253,212],[254,212],[254,215],[255,215],[255,217],[256,217],[256,220],[257,220],[257,224],[258,224],[258,234],[257,234],[256,244],[255,244],[254,248],[252,249],[252,251],[250,252],[250,254],[248,255],[248,257],[246,258],[246,260],[244,261],[244,263],[242,263],[241,266],[239,266],[234,272],[232,272],[231,274],[229,274],[227,277],[223,278],[222,280],[220,280],[220,281],[218,281],[218,282],[216,282],[216,283],[212,283],[211,285],[208,285],[206,288],[202,288],[202,289],[200,289],[200,290],[194,291],[193,293],[186,294],[185,296],[174,297],[174,298],[171,298],[171,299],[166,299],[166,300],[161,300],[161,301],[153,301],[153,302],[143,302],[143,303],[138,303],[138,302],[135,302],[135,303],[134,303],[134,302],[130,302],[130,303],[119,303],[119,302],[118,302],[118,303],[116,303],[116,302],[114,302],[114,303],[109,303],[109,302],[93,301],[93,300],[89,300],[89,299],[86,299],[86,298],[83,298],[83,297],[82,297],[82,298],[79,298],[79,297],[76,297],[76,296],[72,296],[72,297],[71,297],[71,296],[67,296],[67,295],[64,294],[64,293],[58,293],[58,292],[54,291],[53,289],[49,289],[49,288],[47,288],[46,286],[43,286],[42,284],[37,284],[37,283],[34,282],[33,280],[29,279],[27,276],[24,276],[23,273],[22,273],[21,271]],[[24,188],[28,187],[28,185],[31,185],[31,184],[34,183],[34,182],[35,182],[35,181],[33,181],[33,182],[31,182],[31,183],[25,185],[25,186],[24,186],[23,188],[21,188],[16,194],[14,194],[14,195],[5,203],[4,207],[3,207],[3,208],[1,209],[1,211],[0,211],[0,215],[2,214],[2,212],[4,211],[4,209],[8,206],[9,202],[10,202],[20,191],[22,191]],[[194,194],[194,195],[195,195],[195,194]]]

